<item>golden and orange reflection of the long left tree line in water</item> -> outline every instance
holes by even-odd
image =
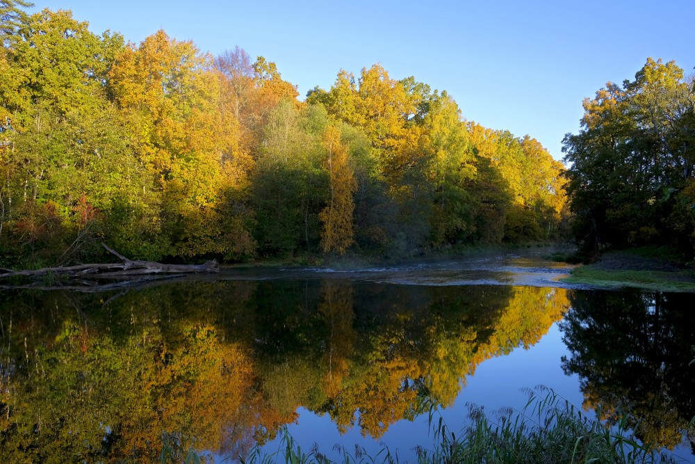
[[[531,346],[564,289],[343,280],[183,282],[126,294],[6,292],[3,462],[243,455],[300,406],[378,438],[451,404],[487,358]]]

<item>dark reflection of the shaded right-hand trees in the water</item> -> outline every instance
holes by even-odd
[[[639,438],[673,449],[695,417],[692,294],[578,291],[570,300],[563,369],[579,374],[584,407],[604,419],[627,413]]]

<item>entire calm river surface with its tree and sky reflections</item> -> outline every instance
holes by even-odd
[[[0,462],[154,462],[165,446],[229,462],[277,450],[284,426],[303,449],[383,442],[413,461],[432,440],[423,395],[457,429],[467,403],[520,409],[538,384],[695,461],[693,296],[553,287],[562,272],[491,257],[3,291]]]

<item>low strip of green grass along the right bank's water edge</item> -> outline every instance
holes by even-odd
[[[695,291],[695,272],[690,270],[611,271],[596,269],[589,264],[573,269],[569,277],[560,279],[560,282],[607,289],[632,287],[652,291]]]

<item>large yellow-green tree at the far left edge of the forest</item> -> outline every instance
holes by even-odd
[[[76,259],[88,232],[74,214],[79,199],[92,210],[104,207],[92,195],[99,177],[120,176],[129,165],[127,152],[99,140],[100,129],[92,127],[109,114],[104,79],[123,41],[90,33],[70,12],[43,10],[19,19],[0,56],[0,229],[8,234],[3,251],[10,262],[22,255],[67,262]],[[106,130],[115,134],[118,127]],[[116,153],[124,163],[111,162]]]

